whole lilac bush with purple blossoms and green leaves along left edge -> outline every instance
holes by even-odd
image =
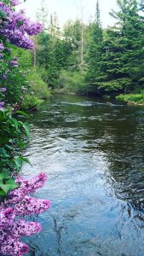
[[[29,252],[21,238],[39,233],[41,224],[25,217],[50,207],[50,201],[30,195],[43,187],[47,176],[43,172],[29,180],[20,176],[23,163],[29,163],[20,152],[26,147],[30,129],[28,123],[14,116],[27,117],[18,109],[30,86],[12,51],[15,46],[33,49],[28,35],[41,32],[42,26],[27,20],[23,12],[15,12],[18,3],[0,2],[0,254],[3,256],[22,256]]]

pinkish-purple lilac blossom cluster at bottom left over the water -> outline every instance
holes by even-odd
[[[28,196],[42,188],[46,179],[47,176],[44,173],[30,180],[16,178],[20,187],[10,191],[9,199],[5,200],[0,207],[0,253],[2,255],[22,256],[29,252],[29,247],[20,241],[20,238],[39,233],[41,225],[37,222],[27,222],[22,218],[49,209],[50,201]]]

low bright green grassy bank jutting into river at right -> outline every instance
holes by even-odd
[[[116,96],[118,101],[127,103],[128,105],[144,106],[144,94],[126,94]]]

